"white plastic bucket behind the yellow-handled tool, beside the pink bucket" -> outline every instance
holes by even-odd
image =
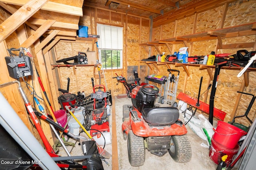
[[[72,115],[70,115],[71,118],[68,122],[68,129],[70,131],[70,133],[73,133],[74,135],[79,135],[80,129],[82,129],[79,125],[79,123],[74,119],[74,117]],[[76,119],[78,119],[78,121],[81,124],[84,124],[84,115],[83,114],[74,114],[74,116],[76,117]]]

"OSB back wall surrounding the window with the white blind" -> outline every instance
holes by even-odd
[[[146,26],[134,25],[128,23],[126,25],[126,18],[128,20],[136,19],[131,16],[120,14],[120,19],[122,21],[115,20],[106,20],[102,18],[98,18],[97,14],[102,12],[102,10],[96,10],[91,8],[90,16],[83,16],[80,19],[79,25],[88,26],[88,34],[96,34],[96,23],[106,23],[106,24],[114,24],[114,26],[122,26],[124,27],[124,49],[123,49],[123,69],[121,70],[104,70],[104,76],[101,78],[101,84],[106,86],[108,91],[111,91],[113,96],[117,96],[118,94],[126,94],[126,90],[123,84],[118,84],[116,78],[116,74],[118,76],[129,76],[126,77],[127,80],[134,80],[133,71],[136,70],[139,72],[140,76],[146,76],[146,66],[142,64],[140,66],[140,54],[142,57],[147,58],[148,56],[145,53],[140,53],[139,43],[147,42],[149,37],[149,29]],[[111,14],[110,14],[111,16]],[[97,19],[95,19],[97,18]],[[86,52],[87,49],[92,49],[92,44],[87,43],[74,43],[74,42],[59,42],[56,46],[56,55],[57,60],[72,57],[77,55],[78,51]],[[94,44],[94,51],[98,55],[98,49],[96,48],[96,44]],[[142,72],[140,72],[140,68]],[[60,67],[58,68],[60,71],[60,79],[63,89],[66,89],[67,86],[67,78],[70,78],[70,88],[69,91],[71,93],[77,93],[84,91],[86,94],[92,93],[92,82],[91,78],[94,78],[94,66],[76,66],[76,67]],[[130,70],[131,69],[131,70]],[[102,73],[103,71],[100,70]],[[132,74],[130,74],[132,73]],[[98,74],[98,70],[96,69],[95,74]],[[131,76],[132,75],[132,76]],[[106,78],[106,81],[105,81]],[[94,84],[99,84],[99,79],[94,78]]]

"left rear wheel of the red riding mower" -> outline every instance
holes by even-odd
[[[127,143],[128,158],[131,166],[142,166],[145,161],[144,139],[129,131]]]

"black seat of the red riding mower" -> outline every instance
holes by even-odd
[[[151,126],[166,126],[174,124],[179,118],[176,107],[151,107],[142,109],[144,120]]]

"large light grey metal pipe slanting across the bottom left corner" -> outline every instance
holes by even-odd
[[[13,83],[14,82],[1,84],[0,87]],[[60,170],[54,160],[52,160],[49,154],[44,150],[41,144],[37,141],[34,135],[29,131],[20,117],[16,114],[2,93],[0,93],[0,101],[0,123],[4,129],[6,129],[12,138],[30,155],[33,160],[41,162],[41,164],[38,165],[42,169]]]

